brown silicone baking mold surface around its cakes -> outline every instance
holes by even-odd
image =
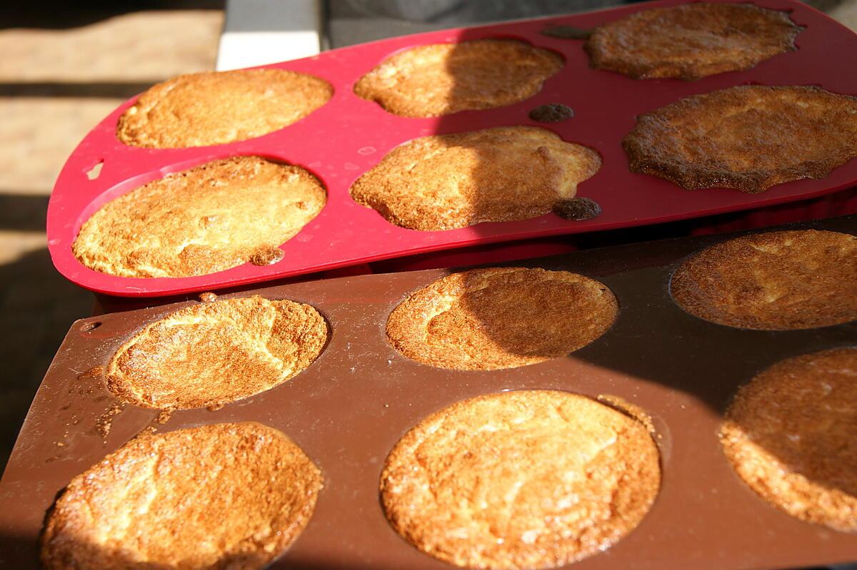
[[[857,234],[857,216],[788,227]],[[676,306],[668,294],[672,271],[692,252],[733,236],[663,240],[517,263],[601,280],[619,300],[620,315],[589,346],[510,370],[442,370],[405,359],[387,343],[384,326],[393,307],[448,270],[238,293],[312,304],[331,324],[326,350],[307,371],[275,389],[214,412],[177,411],[163,425],[157,410],[126,406],[117,412],[118,401],[97,367],[145,324],[199,301],[78,321],[39,388],[0,481],[0,566],[39,567],[39,531],[57,493],[147,426],[174,430],[255,420],[285,431],[325,477],[309,526],[272,567],[448,568],[405,543],[387,524],[378,498],[381,467],[399,437],[429,413],[506,389],[619,396],[643,407],[656,427],[663,479],[653,508],[619,543],[572,567],[722,570],[857,561],[857,536],[771,507],[740,481],[722,454],[720,417],[740,384],[781,359],[857,344],[857,322],[815,330],[736,330]],[[224,296],[230,295],[236,294]],[[106,426],[111,429],[103,435]]]

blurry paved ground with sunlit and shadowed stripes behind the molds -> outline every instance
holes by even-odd
[[[857,29],[857,0],[812,3]],[[92,309],[45,249],[57,173],[123,99],[213,69],[223,24],[222,0],[16,4],[0,14],[0,468],[69,324]]]

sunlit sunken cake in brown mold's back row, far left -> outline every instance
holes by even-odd
[[[319,312],[291,300],[254,296],[189,306],[123,344],[107,365],[107,386],[136,406],[217,407],[296,376],[327,337]]]

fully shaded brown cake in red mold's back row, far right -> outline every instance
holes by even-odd
[[[689,3],[642,10],[596,27],[584,49],[594,68],[634,79],[695,80],[750,69],[796,50],[801,29],[779,10]]]

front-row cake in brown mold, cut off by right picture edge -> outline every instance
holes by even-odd
[[[776,508],[857,531],[857,348],[783,360],[743,386],[720,439],[729,462]]]

